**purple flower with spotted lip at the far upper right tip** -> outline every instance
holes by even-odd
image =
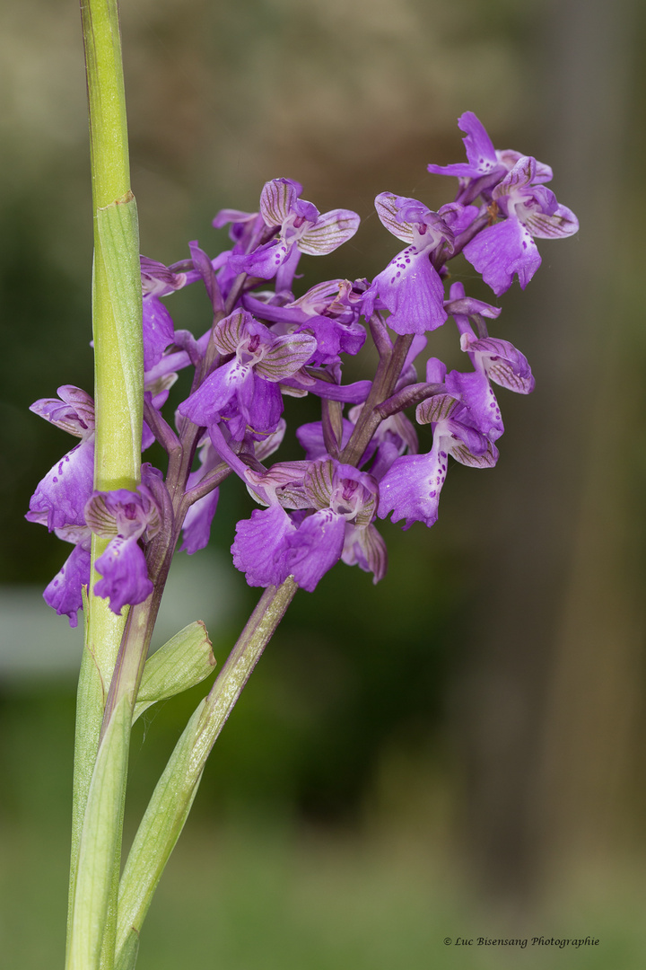
[[[578,231],[574,213],[561,206],[551,189],[537,184],[537,161],[521,156],[492,192],[496,214],[504,221],[488,226],[464,247],[465,258],[496,296],[505,293],[514,275],[525,289],[540,266],[534,237],[565,239]]]

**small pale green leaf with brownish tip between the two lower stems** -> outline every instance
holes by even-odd
[[[145,663],[133,724],[151,704],[200,684],[215,667],[211,641],[200,620],[189,624]]]

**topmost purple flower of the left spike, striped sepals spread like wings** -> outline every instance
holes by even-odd
[[[347,209],[321,212],[300,198],[302,185],[292,178],[273,178],[261,192],[261,216],[266,226],[278,230],[275,239],[265,242],[248,256],[232,256],[231,267],[271,279],[284,264],[286,272],[277,279],[277,289],[289,289],[299,253],[323,256],[352,239],[359,217]]]

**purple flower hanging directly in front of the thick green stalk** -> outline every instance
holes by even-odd
[[[110,539],[95,564],[103,579],[94,592],[109,598],[110,609],[118,615],[125,605],[143,602],[153,591],[138,539],[149,540],[160,531],[161,510],[151,489],[141,484],[137,492],[94,492],[85,506],[85,520],[93,533]]]

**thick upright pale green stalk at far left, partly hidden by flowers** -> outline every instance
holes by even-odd
[[[81,0],[81,17],[94,206],[95,488],[135,489],[143,399],[141,288],[116,0]],[[94,563],[106,544],[94,537],[78,683],[66,964],[70,970],[99,966],[118,872],[120,806],[132,713],[127,704],[120,705],[99,752],[106,696],[127,617],[126,610],[123,616],[115,616],[108,600],[92,592],[98,578]],[[106,966],[110,965],[108,954]]]

